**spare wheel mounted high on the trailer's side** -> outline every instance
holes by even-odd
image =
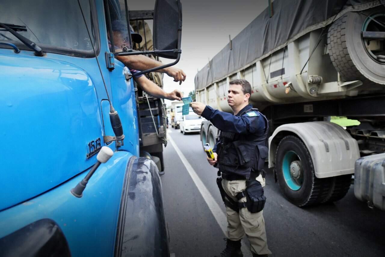
[[[328,52],[343,80],[385,84],[384,39],[369,38],[370,32],[385,32],[384,22],[385,14],[366,10],[348,12],[331,24]]]

